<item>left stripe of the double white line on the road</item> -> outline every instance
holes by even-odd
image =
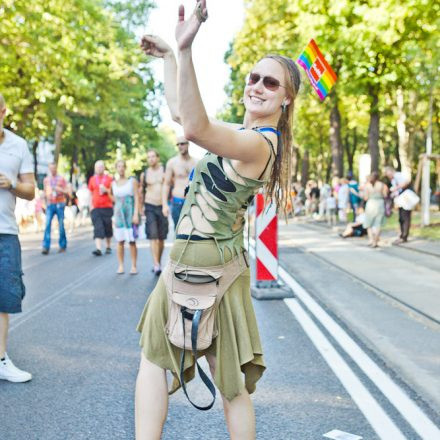
[[[321,356],[350,394],[374,431],[381,439],[406,440],[399,428],[385,413],[377,400],[354,374],[353,370],[319,330],[297,299],[284,300]]]

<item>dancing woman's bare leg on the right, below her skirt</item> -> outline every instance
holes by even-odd
[[[215,373],[215,356],[206,355],[212,376]],[[255,412],[246,389],[229,401],[222,395],[226,424],[231,440],[255,440]]]

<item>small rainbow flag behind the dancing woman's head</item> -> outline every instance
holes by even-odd
[[[321,101],[330,92],[338,77],[312,38],[296,62],[306,71]]]

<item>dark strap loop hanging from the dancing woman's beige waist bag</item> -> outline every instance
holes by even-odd
[[[185,318],[192,321],[191,325],[191,346],[192,346],[192,352],[194,355],[194,360],[197,365],[197,370],[199,372],[199,376],[202,379],[203,383],[206,385],[206,388],[208,388],[209,392],[212,395],[212,402],[207,406],[199,406],[196,405],[189,397],[188,391],[186,389],[185,379],[183,377],[184,372],[184,365],[185,365],[185,349],[182,348],[182,354],[180,356],[180,384],[182,385],[183,392],[185,393],[186,398],[189,400],[189,403],[191,403],[192,406],[195,408],[201,410],[201,411],[207,411],[211,409],[215,402],[215,386],[212,383],[211,379],[207,376],[207,374],[203,371],[202,367],[199,365],[197,361],[197,334],[199,332],[199,324],[200,320],[202,319],[203,310],[196,310],[194,314],[187,312],[186,307],[181,307],[180,312],[182,314],[182,327],[183,327],[183,340],[185,340]]]

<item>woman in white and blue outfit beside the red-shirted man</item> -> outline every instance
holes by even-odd
[[[137,226],[139,224],[138,183],[134,178],[125,177],[125,161],[116,162],[117,181],[112,183],[114,206],[114,237],[118,242],[118,274],[124,273],[124,243],[130,244],[131,270],[130,274],[137,274]]]

